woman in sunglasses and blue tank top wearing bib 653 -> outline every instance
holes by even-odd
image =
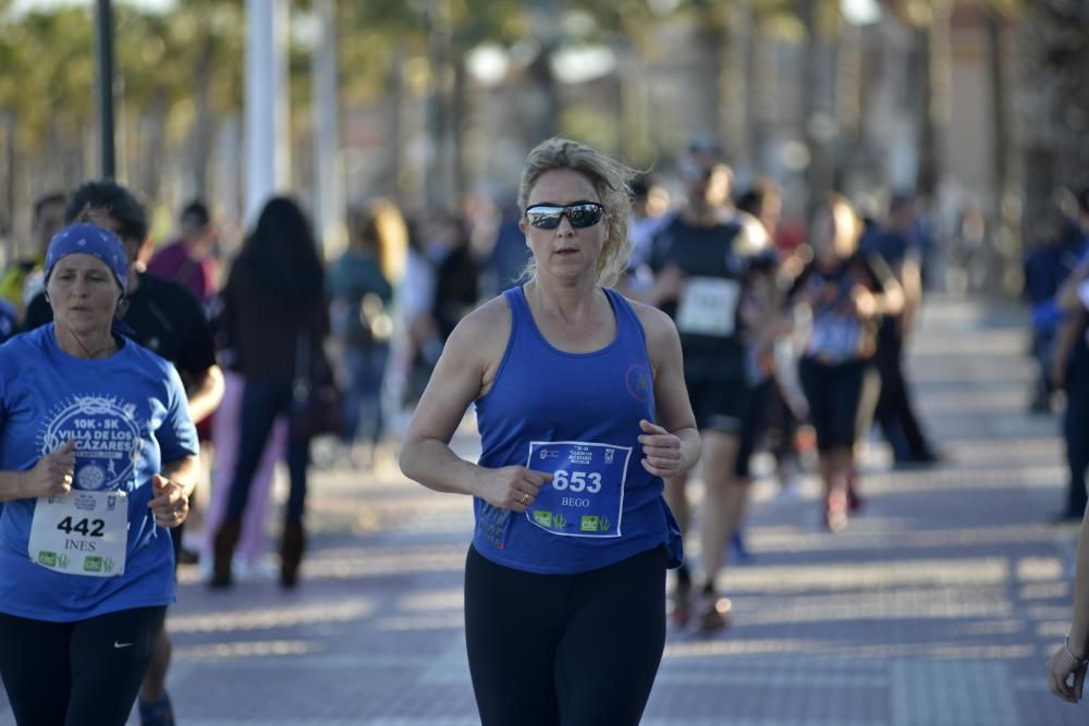
[[[627,179],[575,141],[530,152],[529,280],[454,329],[402,451],[411,479],[474,497],[465,629],[486,725],[637,724],[661,661],[682,556],[662,478],[696,464],[699,435],[673,322],[608,288],[631,253]],[[450,447],[474,402],[478,464]]]

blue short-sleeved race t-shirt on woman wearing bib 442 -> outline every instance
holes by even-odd
[[[59,573],[32,562],[35,508],[52,502],[7,502],[0,509],[0,613],[64,623],[174,600],[170,532],[148,507],[151,476],[163,462],[197,453],[196,429],[174,367],[119,340],[117,353],[91,360],[64,353],[52,324],[0,346],[0,470],[32,469],[74,440],[73,492],[123,492],[127,501],[125,566],[117,577]]]

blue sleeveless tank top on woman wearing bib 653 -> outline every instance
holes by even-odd
[[[523,288],[503,293],[511,337],[487,395],[476,402],[480,466],[553,475],[525,514],[474,502],[473,544],[500,565],[544,574],[604,567],[665,546],[681,564],[681,531],[664,483],[643,468],[639,419],[654,420],[646,334],[621,295],[604,291],[616,337],[592,353],[552,347]]]

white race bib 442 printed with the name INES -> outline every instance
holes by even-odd
[[[64,575],[118,577],[125,573],[129,499],[124,492],[73,490],[34,506],[30,561]]]

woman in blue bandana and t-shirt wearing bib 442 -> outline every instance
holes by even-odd
[[[174,368],[117,332],[126,280],[113,234],[65,227],[54,322],[0,347],[0,677],[21,725],[124,724],[174,599],[196,430]]]

